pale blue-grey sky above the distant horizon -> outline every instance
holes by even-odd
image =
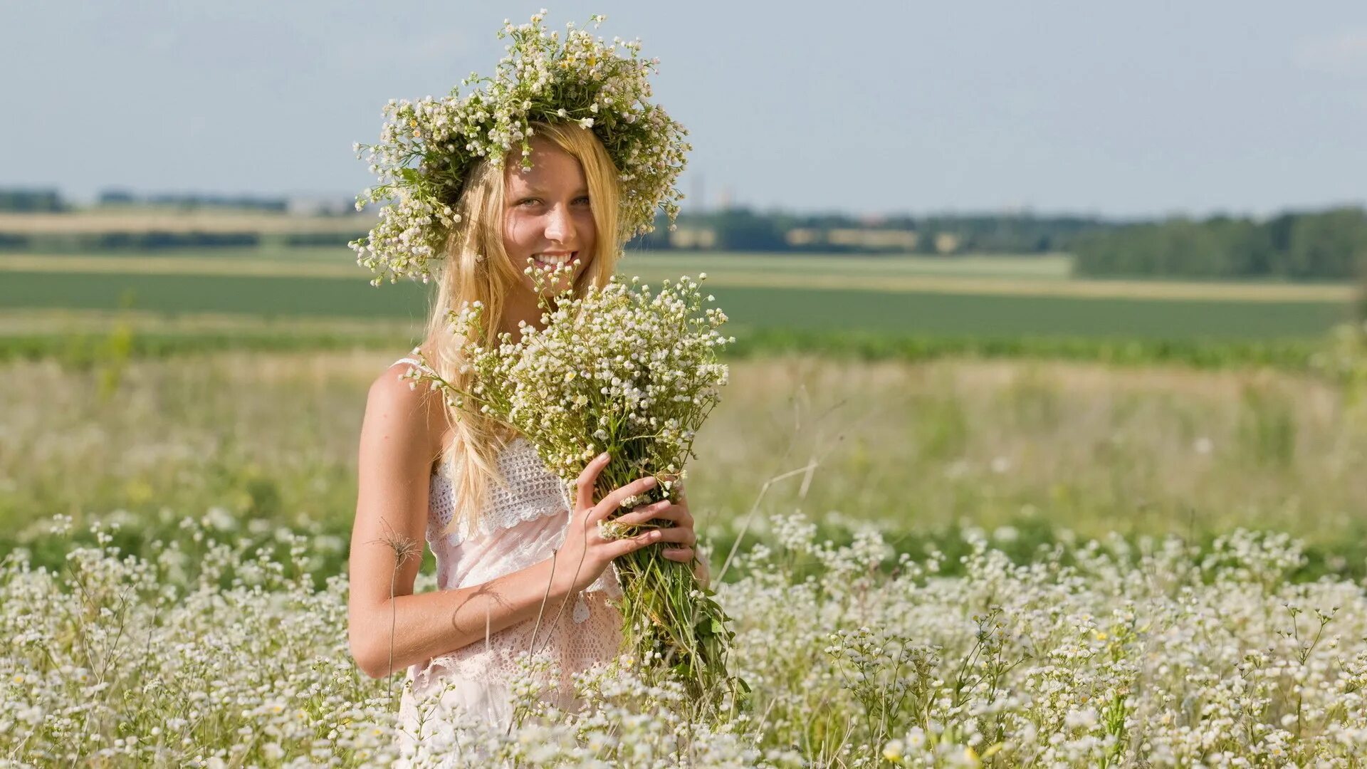
[[[541,0],[544,1],[544,0]],[[388,99],[539,4],[0,5],[0,187],[353,198]],[[1266,216],[1367,201],[1367,3],[548,7],[660,59],[689,208]]]

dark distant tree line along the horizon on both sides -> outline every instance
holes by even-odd
[[[100,194],[103,207],[235,208],[287,212],[286,198],[209,194]],[[0,189],[0,211],[64,212],[56,190]],[[727,208],[684,213],[670,231],[656,230],[632,245],[651,250],[711,249],[819,253],[961,253],[1076,256],[1080,275],[1178,278],[1352,279],[1367,285],[1367,211],[1334,208],[1285,212],[1270,219],[1211,216],[1120,222],[1095,216],[977,213],[930,216],[849,216],[843,213],[759,212]],[[0,231],[0,249],[157,249],[213,246],[346,246],[365,234],[331,233],[60,233]]]

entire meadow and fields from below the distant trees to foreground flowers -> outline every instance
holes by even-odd
[[[0,256],[0,762],[395,758],[344,564],[366,386],[425,298],[309,255]],[[529,669],[518,729],[418,764],[1362,765],[1348,289],[725,259],[636,264],[707,271],[741,337],[689,495],[753,709],[618,660],[560,714]]]

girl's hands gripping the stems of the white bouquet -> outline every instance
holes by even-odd
[[[686,528],[655,528],[623,539],[603,538],[599,532],[599,521],[608,520],[625,499],[638,494],[645,494],[655,487],[653,478],[641,478],[612,490],[595,505],[593,487],[597,483],[599,473],[603,472],[604,467],[607,467],[608,460],[610,456],[607,453],[599,454],[588,464],[588,467],[584,468],[584,472],[581,472],[580,478],[576,480],[574,510],[570,513],[570,521],[565,531],[565,542],[562,543],[555,561],[555,577],[566,580],[560,584],[563,584],[569,592],[577,592],[593,584],[607,565],[612,562],[612,558],[619,558],[633,550],[640,550],[641,547],[655,542],[679,543],[688,553],[686,557],[693,557],[693,545],[697,538],[693,535],[692,516],[686,517]],[[666,508],[674,506],[675,505],[671,505],[670,502],[656,502],[655,505],[637,508],[632,513],[627,513],[627,516],[637,516],[638,519],[640,516],[644,516],[644,519],[640,519],[641,523],[644,523],[658,517],[667,517],[660,513],[663,513]],[[688,509],[685,508],[684,512],[688,513]],[[626,519],[626,516],[622,516],[618,520],[623,519]],[[636,519],[626,519],[626,523],[636,523]],[[686,558],[674,557],[671,560],[677,561]]]

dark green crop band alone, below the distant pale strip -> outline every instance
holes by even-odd
[[[711,278],[709,278],[711,282]],[[737,326],[880,330],[899,334],[1128,338],[1314,337],[1346,317],[1346,304],[1100,298],[819,287],[708,289]],[[0,309],[118,309],[264,317],[420,320],[425,287],[380,289],[357,279],[298,275],[7,272]]]

